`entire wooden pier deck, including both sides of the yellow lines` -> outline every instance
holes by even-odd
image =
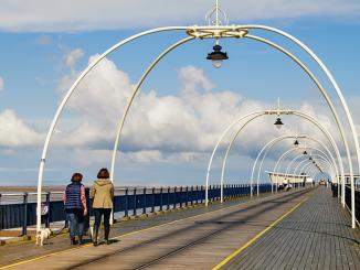
[[[1,247],[0,269],[360,269],[349,217],[329,188],[298,190],[118,224],[109,246]]]

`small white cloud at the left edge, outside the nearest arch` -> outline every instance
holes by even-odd
[[[0,147],[33,147],[42,141],[43,136],[24,123],[13,110],[0,114]]]

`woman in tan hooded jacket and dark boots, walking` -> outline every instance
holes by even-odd
[[[110,215],[114,207],[114,185],[109,180],[109,173],[106,168],[103,168],[97,173],[97,180],[94,182],[91,197],[93,198],[93,209],[95,215],[93,244],[98,245],[98,228],[104,216],[104,239],[105,244],[109,245],[108,236],[110,233]]]

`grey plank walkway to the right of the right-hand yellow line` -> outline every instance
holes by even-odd
[[[329,188],[230,260],[223,269],[360,269],[360,234]]]

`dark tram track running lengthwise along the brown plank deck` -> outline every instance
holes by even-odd
[[[241,205],[246,205],[245,208],[231,209],[229,213],[221,214],[215,218],[208,217],[208,218],[202,218],[202,220],[195,220],[191,225],[184,226],[183,228],[177,229],[176,231],[172,231],[170,229],[168,234],[165,234],[160,237],[155,237],[152,239],[145,240],[142,242],[129,246],[127,248],[116,249],[104,256],[99,256],[98,258],[92,258],[83,262],[72,264],[66,269],[82,269],[87,266],[93,266],[102,262],[108,263],[110,261],[117,261],[117,260],[121,261],[121,256],[126,256],[131,252],[135,253],[141,252],[141,250],[146,250],[146,249],[151,250],[151,246],[159,246],[161,245],[161,242],[167,242],[173,239],[178,239],[180,244],[176,245],[174,248],[166,250],[166,252],[160,252],[159,255],[152,256],[150,259],[139,261],[139,263],[136,263],[136,266],[134,266],[134,268],[131,269],[146,269],[152,266],[157,266],[162,261],[166,261],[167,259],[170,259],[177,255],[181,255],[182,252],[198,245],[201,245],[213,237],[219,236],[221,233],[224,233],[229,229],[234,229],[236,226],[241,226],[245,224],[251,226],[261,226],[261,225],[256,225],[255,223],[254,224],[251,223],[255,217],[258,217],[258,215],[268,212],[271,209],[275,209],[276,207],[278,207],[284,203],[290,203],[292,201],[295,201],[296,198],[307,194],[311,190],[301,190],[297,192],[292,192],[290,194],[285,194],[285,195],[282,194],[282,196],[261,198],[257,202],[255,201],[245,202],[241,204]],[[247,206],[247,204],[251,205]],[[212,212],[209,212],[203,215],[208,215],[208,214],[211,215]],[[244,215],[247,216],[244,218]],[[190,217],[189,219],[193,219],[193,218],[197,218],[197,216]],[[182,239],[188,238],[190,231],[195,229],[199,230],[199,228],[204,228],[204,233],[198,235],[197,237],[190,237],[188,240],[182,241]]]

